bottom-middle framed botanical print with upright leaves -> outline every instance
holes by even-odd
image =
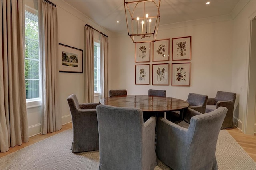
[[[169,63],[152,65],[152,85],[169,85]]]

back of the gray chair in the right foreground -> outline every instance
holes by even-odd
[[[227,111],[226,107],[219,107],[212,112],[191,118],[186,139],[188,149],[186,169],[197,166],[196,157],[205,164],[216,161],[214,159],[216,159],[217,139]]]

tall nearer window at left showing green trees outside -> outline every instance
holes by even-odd
[[[27,101],[40,100],[38,16],[25,11],[25,83]]]

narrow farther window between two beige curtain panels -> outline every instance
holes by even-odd
[[[94,93],[100,93],[100,43],[94,42]]]

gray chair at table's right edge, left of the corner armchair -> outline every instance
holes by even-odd
[[[189,93],[186,101],[189,104],[188,108],[199,111],[200,113],[205,113],[208,96],[196,93]],[[168,112],[168,115],[166,115],[166,119],[175,122],[178,120],[182,120],[183,117],[179,114],[179,112]]]

